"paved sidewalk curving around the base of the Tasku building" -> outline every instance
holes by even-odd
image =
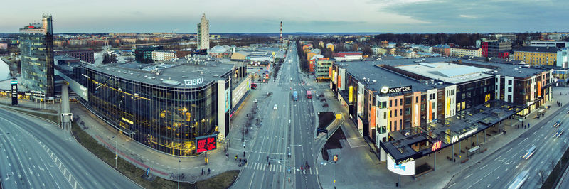
[[[218,142],[217,149],[207,153],[208,165],[205,163],[205,153],[193,157],[176,157],[139,144],[127,136],[118,135],[118,141],[115,141],[112,137],[117,136],[117,130],[96,117],[95,114],[92,114],[92,112],[83,107],[82,104],[72,103],[70,104],[70,109],[74,115],[80,117],[80,121],[84,121],[85,126],[88,127],[88,129],[85,129],[87,134],[93,136],[100,144],[104,144],[111,151],[115,151],[115,142],[117,142],[119,156],[124,160],[129,161],[129,163],[141,169],[150,168],[153,175],[168,180],[176,180],[178,173],[180,173],[180,175],[184,174],[184,178],[182,178],[181,181],[193,183],[211,178],[225,171],[240,169],[238,161],[235,161],[236,154],[239,158],[243,158],[242,155],[239,155],[243,153],[243,148],[240,148],[240,146],[243,146],[243,143],[240,140],[241,131],[238,125],[242,125],[241,123],[245,122],[246,114],[248,114],[252,108],[252,103],[250,103],[252,99],[250,98],[254,98],[252,97],[253,94],[256,96],[257,93],[255,90],[252,90],[250,95],[245,98],[245,102],[243,102],[237,112],[233,114],[231,130],[228,135],[229,144],[223,141]],[[250,134],[253,133],[250,131],[249,135]],[[229,154],[228,157],[225,156],[225,148]],[[248,151],[248,148],[245,148],[245,151]],[[178,162],[179,160],[181,161],[180,163]],[[209,175],[207,174],[208,168],[211,170]],[[205,172],[204,175],[201,175],[202,169]]]

